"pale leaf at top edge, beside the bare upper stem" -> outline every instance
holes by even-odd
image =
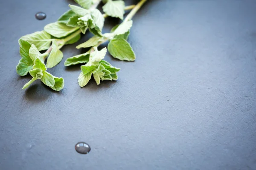
[[[108,0],[102,9],[108,16],[118,17],[122,20],[125,14],[125,2],[123,0]]]

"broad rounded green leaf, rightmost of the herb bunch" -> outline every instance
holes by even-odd
[[[108,51],[114,58],[120,60],[134,61],[136,58],[131,45],[123,38],[111,40]]]

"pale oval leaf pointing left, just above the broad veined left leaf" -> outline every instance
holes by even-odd
[[[70,27],[70,26],[66,26],[63,23],[49,23],[44,27],[44,31],[46,31],[47,33],[51,34],[54,37],[65,37],[68,34],[73,33],[74,31],[78,30],[79,27]]]

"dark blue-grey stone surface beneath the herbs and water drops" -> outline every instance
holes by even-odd
[[[106,57],[121,68],[117,82],[80,88],[80,65],[62,60],[49,69],[64,77],[61,92],[40,81],[22,90],[18,38],[69,3],[1,2],[1,170],[256,169],[255,0],[151,0],[133,19],[136,61]],[[90,36],[62,48],[64,59]],[[90,153],[76,152],[79,141]]]

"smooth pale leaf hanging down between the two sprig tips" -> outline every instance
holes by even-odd
[[[63,58],[63,53],[58,49],[57,42],[55,40],[52,41],[52,51],[49,54],[49,57],[47,59],[46,67],[47,68],[54,67],[59,62],[61,62],[62,58]]]

